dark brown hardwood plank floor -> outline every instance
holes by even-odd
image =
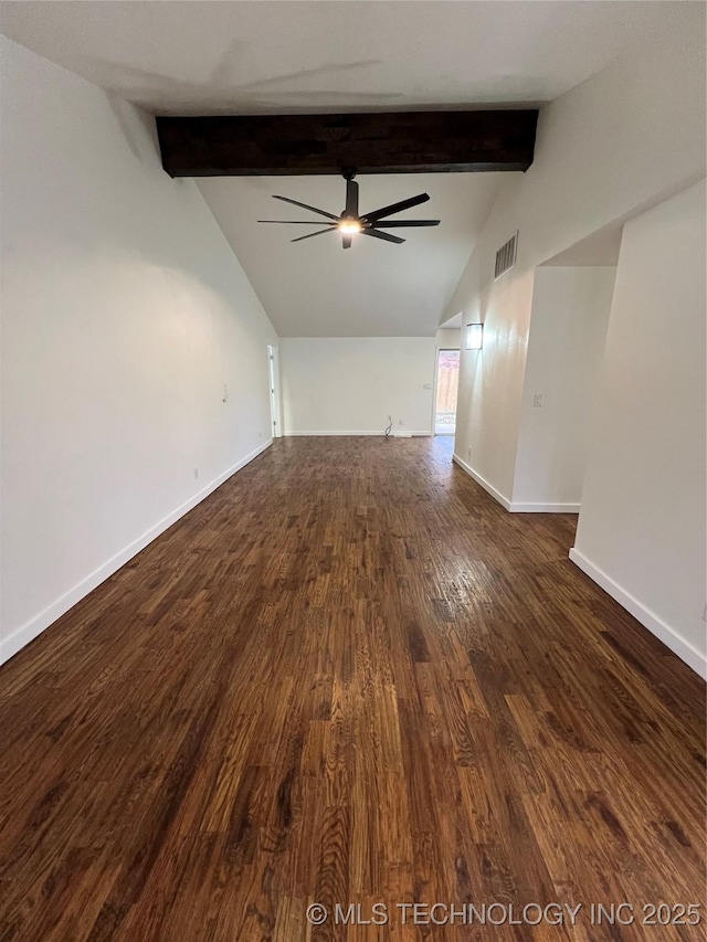
[[[704,685],[450,458],[281,440],[0,669],[2,940],[705,938]]]

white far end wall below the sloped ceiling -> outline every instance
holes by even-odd
[[[285,435],[432,434],[434,337],[283,337]]]

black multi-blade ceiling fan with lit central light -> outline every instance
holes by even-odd
[[[404,226],[413,225],[439,225],[439,219],[407,219],[407,220],[387,220],[386,216],[393,213],[402,212],[411,207],[418,207],[420,203],[426,203],[430,199],[428,193],[420,193],[418,197],[411,197],[409,200],[401,200],[399,203],[392,203],[389,207],[383,207],[380,210],[360,215],[358,211],[358,183],[354,181],[356,171],[345,170],[344,179],[346,180],[346,208],[340,215],[328,213],[325,210],[319,210],[316,207],[308,207],[307,203],[299,203],[297,200],[291,200],[288,197],[273,197],[274,200],[282,200],[285,203],[292,203],[295,207],[302,207],[305,210],[324,215],[333,222],[324,223],[326,229],[318,229],[316,232],[310,232],[307,235],[300,235],[297,239],[292,239],[291,242],[302,242],[303,239],[313,239],[315,235],[324,235],[325,232],[340,232],[341,244],[344,248],[350,248],[355,235],[372,235],[374,239],[382,239],[386,242],[394,242],[400,245],[404,239],[398,235],[391,235],[389,232],[382,232],[384,229],[403,229]],[[268,222],[275,224],[289,225],[316,225],[316,220],[288,220],[288,219],[258,219],[258,222]]]

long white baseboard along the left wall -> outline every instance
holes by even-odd
[[[120,569],[122,565],[125,565],[128,560],[133,559],[134,555],[137,555],[137,553],[144,550],[145,547],[152,542],[152,540],[157,539],[157,537],[163,533],[165,530],[172,526],[172,523],[176,523],[180,517],[183,517],[184,514],[188,514],[189,510],[192,510],[198,504],[201,504],[204,498],[212,494],[218,487],[220,487],[224,481],[232,477],[236,472],[241,470],[242,467],[245,467],[245,465],[247,465],[250,462],[261,455],[272,444],[273,440],[271,438],[263,445],[260,445],[240,462],[236,462],[236,464],[220,474],[205,487],[203,487],[201,490],[190,497],[189,500],[186,500],[166,517],[162,517],[162,519],[155,523],[154,527],[150,527],[149,530],[146,530],[131,543],[128,543],[127,547],[125,547],[109,560],[99,565],[98,569],[95,569],[77,585],[74,585],[73,589],[70,589],[68,592],[65,592],[64,595],[59,597],[55,602],[52,602],[51,605],[49,605],[33,618],[31,618],[29,622],[25,622],[24,625],[12,632],[11,635],[8,635],[4,638],[0,638],[0,664],[4,664],[6,660],[9,660],[9,658],[15,655],[21,648],[23,648],[27,644],[29,644],[38,635],[45,631],[45,628],[48,628],[57,618],[64,615],[77,602],[81,602],[84,596],[86,596],[89,592],[93,592],[96,586],[101,585],[102,582],[105,582],[108,576],[113,575],[114,572],[117,572],[117,570]]]

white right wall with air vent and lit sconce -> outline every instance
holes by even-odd
[[[502,190],[442,318],[485,321],[483,351],[462,350],[455,452],[506,501],[535,266],[705,174],[705,8],[675,6],[655,47],[541,108],[535,161]],[[496,250],[516,230],[516,268],[494,282]]]

